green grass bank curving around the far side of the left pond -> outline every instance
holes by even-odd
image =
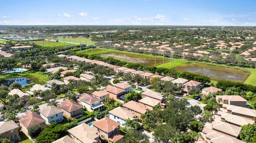
[[[21,76],[30,78],[36,84],[44,84],[46,81],[49,81],[48,77],[34,71],[5,74],[1,75],[0,79],[17,78]]]

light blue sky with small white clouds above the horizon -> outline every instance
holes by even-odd
[[[256,0],[1,0],[0,25],[256,26]]]

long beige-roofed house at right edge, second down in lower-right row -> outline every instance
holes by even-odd
[[[234,106],[229,104],[222,104],[222,110],[226,110],[227,112],[230,112],[237,116],[242,116],[244,118],[256,118],[256,110],[240,107],[240,106]]]

